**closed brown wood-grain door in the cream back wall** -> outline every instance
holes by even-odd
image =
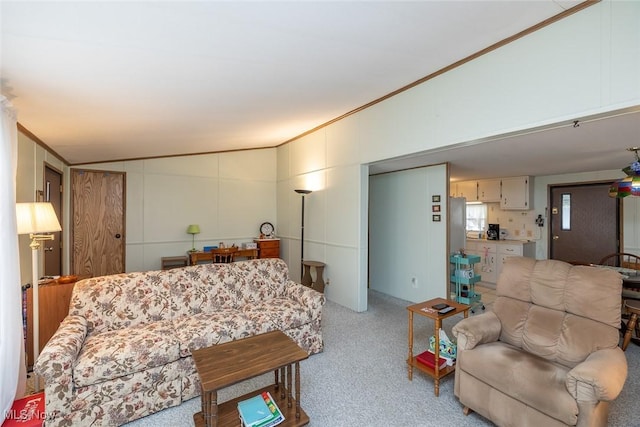
[[[77,275],[124,272],[125,174],[72,170],[71,266]]]

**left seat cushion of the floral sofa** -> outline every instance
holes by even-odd
[[[73,368],[82,387],[178,360],[180,346],[170,321],[160,321],[87,337]]]

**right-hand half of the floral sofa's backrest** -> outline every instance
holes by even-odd
[[[171,270],[173,317],[239,308],[284,293],[287,264],[264,258],[229,264],[202,264]]]

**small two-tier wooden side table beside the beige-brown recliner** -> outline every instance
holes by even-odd
[[[432,308],[436,304],[444,303],[454,307],[455,310],[451,310],[446,314],[439,314],[438,310]],[[454,372],[456,367],[453,366],[445,366],[440,369],[438,363],[436,363],[435,369],[424,365],[416,360],[416,357],[413,354],[413,315],[418,314],[420,316],[428,317],[429,319],[433,319],[434,325],[434,335],[436,338],[435,342],[435,360],[438,360],[440,357],[440,328],[442,327],[442,320],[447,317],[455,316],[458,313],[464,313],[464,317],[469,316],[469,309],[471,307],[465,304],[459,304],[457,302],[453,302],[450,300],[446,300],[444,298],[435,298],[429,301],[420,302],[418,304],[413,304],[407,307],[407,311],[409,312],[409,357],[407,358],[407,365],[409,370],[409,381],[413,379],[413,369],[416,368],[421,372],[429,375],[433,378],[434,389],[433,392],[436,396],[440,394],[440,379]],[[429,337],[427,337],[427,348]]]

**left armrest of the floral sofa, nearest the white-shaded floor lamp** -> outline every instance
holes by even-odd
[[[67,383],[72,379],[73,363],[78,358],[87,336],[87,319],[69,315],[42,349],[34,365],[36,374],[44,377],[45,384]]]

